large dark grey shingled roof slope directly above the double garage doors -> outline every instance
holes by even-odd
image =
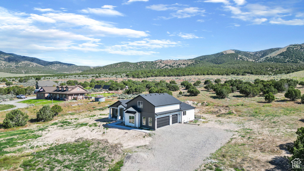
[[[168,93],[141,94],[139,96],[146,99],[155,107],[181,103],[181,101],[169,95]]]

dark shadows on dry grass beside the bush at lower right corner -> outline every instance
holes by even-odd
[[[285,144],[278,145],[278,148],[287,152],[287,154],[290,154],[288,152],[288,147],[292,146],[292,145],[293,145],[292,142],[288,142]],[[269,161],[269,163],[274,167],[271,169],[266,169],[265,171],[291,171],[292,170],[290,167],[290,164],[289,164],[289,160],[282,156],[273,157],[271,159],[271,161]]]

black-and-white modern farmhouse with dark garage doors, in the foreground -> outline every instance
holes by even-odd
[[[153,130],[194,120],[195,109],[167,93],[143,94],[133,99],[118,100],[109,108],[109,118],[122,120],[127,126]]]

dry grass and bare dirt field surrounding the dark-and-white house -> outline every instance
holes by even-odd
[[[201,80],[202,82],[206,79],[221,79],[222,82],[227,79],[242,79],[244,81],[253,81],[254,79],[280,79],[280,78],[291,78],[297,80],[304,80],[304,72],[295,72],[287,75],[276,75],[276,76],[260,76],[260,75],[247,75],[247,76],[220,76],[220,75],[205,75],[205,76],[186,76],[186,77],[157,77],[157,78],[146,78],[146,80],[176,80],[178,84],[181,81],[187,80],[189,82],[195,82],[196,80]],[[104,80],[117,80],[121,81],[128,78],[102,78]],[[99,79],[98,79],[99,80]],[[143,79],[134,79],[143,80]],[[199,88],[200,94],[198,96],[179,96],[178,92],[173,92],[173,96],[177,97],[181,101],[193,101],[195,102],[195,114],[200,115],[205,121],[196,122],[198,124],[212,123],[214,127],[225,126],[227,131],[233,132],[233,137],[226,144],[223,144],[215,153],[209,156],[209,159],[216,162],[210,162],[210,160],[202,161],[202,165],[197,168],[197,171],[201,170],[214,170],[220,168],[222,170],[258,170],[258,171],[275,171],[275,170],[290,170],[287,159],[284,156],[290,155],[287,151],[287,147],[292,145],[296,138],[295,131],[298,127],[304,126],[304,104],[301,104],[299,100],[289,101],[284,97],[284,93],[278,93],[275,95],[275,101],[273,103],[265,103],[263,96],[256,97],[244,97],[239,92],[231,93],[226,99],[219,99],[212,90],[206,90],[201,87]],[[180,87],[182,92],[186,92],[184,88]],[[304,88],[298,86],[297,89],[304,93]],[[122,93],[121,91],[118,93]],[[147,93],[147,92],[145,92]],[[22,130],[35,130],[28,131],[27,134],[33,134],[33,137],[26,138],[23,137],[24,141],[29,144],[37,144],[37,146],[31,145],[29,149],[18,150],[16,144],[12,145],[7,149],[14,151],[13,153],[5,154],[6,157],[0,157],[0,170],[20,170],[21,166],[24,166],[24,160],[32,159],[32,152],[47,153],[49,147],[54,147],[55,149],[62,148],[60,144],[65,144],[68,142],[68,138],[71,141],[75,141],[78,137],[74,136],[75,133],[79,135],[78,138],[96,138],[96,136],[91,135],[95,131],[100,134],[103,133],[103,127],[89,127],[89,125],[94,125],[94,120],[98,118],[106,117],[109,113],[108,109],[102,110],[107,107],[108,104],[112,104],[117,99],[106,99],[105,102],[98,104],[97,102],[87,104],[89,101],[80,100],[78,102],[67,102],[66,106],[64,103],[59,105],[63,107],[63,112],[59,116],[55,117],[54,120],[41,123],[35,122],[36,112],[42,106],[30,106],[28,108],[21,109],[29,115],[29,122],[25,127],[13,128],[9,130],[0,129],[0,140],[4,140],[5,137],[13,138],[17,135],[18,131]],[[83,103],[83,105],[71,106],[72,104]],[[8,112],[0,112],[0,124],[5,118],[5,114]],[[77,118],[77,119],[75,119]],[[72,120],[72,121],[71,121]],[[104,123],[109,122],[109,120],[102,121]],[[54,123],[57,123],[54,124]],[[85,123],[85,124],[84,124]],[[231,128],[230,125],[237,125],[237,129]],[[62,128],[60,125],[63,125]],[[39,136],[52,137],[48,134],[49,131],[53,129],[59,129],[66,139],[62,141],[56,141],[52,138],[50,143],[39,144],[42,142],[42,138]],[[14,136],[9,136],[7,133],[15,134]],[[84,133],[85,132],[85,133]],[[87,134],[89,132],[89,134]],[[91,133],[90,133],[91,132]],[[97,134],[96,133],[96,134]],[[37,137],[35,137],[36,135]],[[54,135],[54,134],[53,134]],[[125,137],[123,132],[112,132],[112,135],[116,138],[112,139],[108,137],[109,142],[99,142],[99,140],[94,141],[94,146],[112,146],[112,143],[119,143]],[[54,135],[55,136],[55,135]],[[144,145],[148,141],[145,139],[145,134],[133,134],[134,140],[140,142],[138,144]],[[22,137],[21,137],[22,138]],[[193,137],[195,138],[195,137]],[[131,138],[132,139],[132,138]],[[133,141],[129,139],[129,141]],[[36,142],[36,143],[34,143]],[[75,143],[88,143],[87,140],[81,140],[81,142]],[[96,144],[97,143],[97,144]],[[109,144],[108,144],[109,143]],[[124,139],[126,143],[126,139]],[[1,145],[1,143],[0,143]],[[22,144],[20,144],[22,146]],[[19,146],[20,146],[19,145]],[[75,144],[71,144],[74,147]],[[84,146],[87,144],[84,144]],[[130,144],[134,146],[134,144]],[[139,146],[139,145],[138,145]],[[1,147],[0,147],[1,148]],[[121,149],[117,148],[117,155],[112,157],[112,162],[106,162],[109,166],[118,167],[121,165],[121,160],[129,148]],[[81,150],[81,149],[79,149]],[[92,150],[92,149],[89,149]],[[204,149],[198,149],[204,150]],[[107,152],[107,151],[105,151]],[[130,152],[130,151],[128,151]],[[1,154],[2,155],[2,154]],[[10,156],[10,157],[8,157]],[[62,157],[62,156],[61,156]],[[35,157],[35,159],[37,159]],[[22,164],[23,163],[23,164]],[[112,164],[111,164],[112,163]],[[22,164],[22,165],[20,165]],[[105,164],[105,163],[104,163]],[[65,166],[67,165],[67,166]],[[58,165],[56,167],[67,167],[69,164]],[[39,166],[43,166],[41,163]],[[49,166],[49,165],[47,165]],[[24,166],[25,167],[25,166]],[[51,167],[51,166],[50,166]],[[53,167],[53,166],[52,166]],[[90,166],[91,167],[91,166]],[[23,168],[24,169],[24,168]],[[29,169],[29,167],[26,167]],[[22,169],[21,169],[22,170]],[[51,169],[47,169],[51,170]],[[63,169],[64,170],[64,169]]]

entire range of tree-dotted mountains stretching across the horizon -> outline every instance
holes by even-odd
[[[240,61],[253,63],[278,63],[304,65],[304,43],[283,48],[271,48],[256,52],[226,50],[216,54],[202,55],[192,59],[119,62],[102,67],[78,66],[59,61],[43,61],[38,58],[9,54],[0,51],[0,72],[9,73],[79,73],[96,74],[132,72],[139,70],[199,67],[204,65],[237,64]]]

